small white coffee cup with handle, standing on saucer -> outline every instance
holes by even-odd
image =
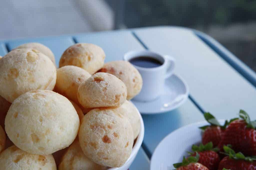
[[[134,97],[138,101],[151,101],[161,95],[164,90],[165,79],[173,74],[175,67],[175,59],[168,55],[160,55],[153,51],[130,51],[124,55],[125,61],[130,61],[133,58],[146,56],[158,60],[162,63],[161,66],[153,68],[145,68],[133,65],[141,74],[143,86],[141,92]]]

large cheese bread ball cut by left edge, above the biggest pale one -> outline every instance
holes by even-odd
[[[31,90],[52,90],[55,83],[54,64],[37,50],[13,50],[0,60],[0,95],[10,103]]]

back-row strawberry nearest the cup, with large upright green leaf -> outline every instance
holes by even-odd
[[[209,142],[213,143],[213,147],[218,146],[223,132],[225,132],[226,127],[234,120],[238,119],[231,119],[229,122],[226,120],[223,126],[220,125],[218,120],[211,115],[209,112],[204,113],[205,120],[210,123],[210,125],[199,127],[200,129],[204,130],[202,135],[202,143],[206,145]]]

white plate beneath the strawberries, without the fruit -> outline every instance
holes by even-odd
[[[224,123],[224,120],[219,120]],[[156,147],[150,163],[151,170],[172,170],[174,163],[182,162],[191,146],[201,143],[202,131],[198,128],[208,125],[206,121],[181,127],[167,135]]]

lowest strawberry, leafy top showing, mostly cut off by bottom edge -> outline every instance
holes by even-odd
[[[199,154],[196,153],[196,156],[190,156],[187,159],[183,157],[182,163],[173,164],[176,170],[209,170],[206,166],[197,163],[199,160]]]

